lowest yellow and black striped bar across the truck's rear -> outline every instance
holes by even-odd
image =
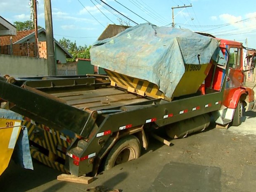
[[[37,149],[35,148],[31,148],[30,149],[30,152],[31,152],[31,156],[40,161],[41,163],[45,164],[46,166],[49,166],[51,168],[54,168],[54,169],[57,169],[59,171],[62,171],[63,173],[69,173],[63,164],[60,164],[59,162],[57,161],[50,161],[49,157],[46,156],[45,154],[39,152]]]

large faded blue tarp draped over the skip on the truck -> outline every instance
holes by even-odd
[[[90,57],[92,65],[152,82],[171,97],[185,64],[208,64],[213,59],[224,65],[218,45],[188,29],[145,23],[95,42]]]

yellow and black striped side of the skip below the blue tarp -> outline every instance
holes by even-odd
[[[112,86],[117,86],[128,90],[129,92],[136,93],[141,96],[148,96],[155,99],[162,98],[170,101],[171,99],[166,97],[163,92],[159,90],[159,87],[146,80],[133,78],[120,73],[106,70],[107,75],[111,80]]]

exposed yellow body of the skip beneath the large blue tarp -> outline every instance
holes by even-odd
[[[209,73],[211,66],[211,63],[204,65],[185,65],[185,73],[175,88],[172,98],[197,92],[207,74]],[[161,92],[159,87],[154,83],[143,79],[126,76],[114,71],[105,71],[111,80],[112,86],[126,89],[128,92],[133,92],[141,96],[148,96],[155,99],[161,98],[167,101],[172,100],[172,98],[164,95],[164,93]]]

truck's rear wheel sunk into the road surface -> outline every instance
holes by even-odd
[[[121,138],[110,150],[105,161],[104,170],[125,163],[127,161],[140,157],[141,145],[140,140],[134,135],[128,135]]]

